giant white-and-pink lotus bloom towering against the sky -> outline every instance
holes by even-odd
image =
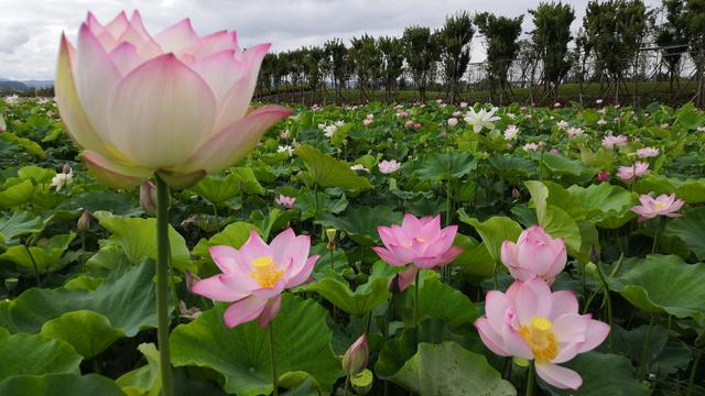
[[[242,158],[291,110],[250,111],[270,44],[240,50],[235,32],[206,36],[183,20],[150,35],[139,12],[102,25],[88,13],[77,46],[62,35],[56,101],[88,168],[113,187],[158,173],[173,187]]]

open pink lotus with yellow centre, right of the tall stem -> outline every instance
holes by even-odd
[[[236,327],[259,317],[267,327],[281,306],[284,289],[305,283],[318,255],[308,257],[311,239],[288,229],[268,245],[257,231],[239,250],[212,246],[210,256],[223,274],[196,283],[191,292],[219,301],[235,301],[225,323]]]

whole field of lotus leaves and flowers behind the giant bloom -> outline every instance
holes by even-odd
[[[701,110],[293,109],[171,191],[176,394],[705,394]],[[0,116],[0,395],[159,394],[152,186]]]

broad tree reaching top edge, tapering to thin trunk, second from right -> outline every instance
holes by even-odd
[[[615,101],[625,70],[637,59],[647,28],[642,0],[590,0],[583,25],[597,58],[597,68],[615,82]],[[634,69],[637,65],[634,63]]]

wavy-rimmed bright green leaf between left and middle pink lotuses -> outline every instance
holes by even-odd
[[[386,266],[387,264],[378,262],[376,265]],[[391,294],[388,283],[388,276],[375,276],[373,273],[366,284],[359,285],[352,292],[347,282],[324,277],[307,284],[302,290],[316,292],[334,306],[350,315],[361,317],[389,299]]]

